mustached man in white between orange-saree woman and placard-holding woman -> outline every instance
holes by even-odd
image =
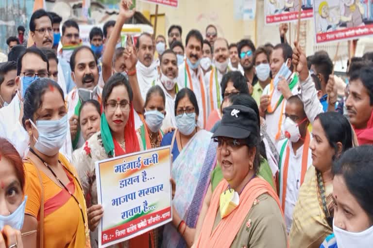
[[[77,48],[70,58],[71,78],[76,87],[68,93],[68,120],[73,149],[83,146],[85,140],[78,129],[79,109],[82,101],[89,99],[101,103],[102,88],[98,86],[99,69],[97,60],[90,47]]]

